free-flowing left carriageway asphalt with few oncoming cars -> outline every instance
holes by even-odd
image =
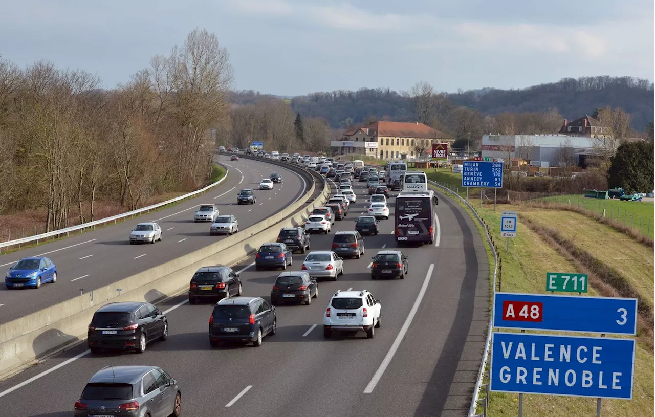
[[[39,245],[0,256],[3,278],[10,266],[22,257],[47,256],[57,266],[56,283],[40,289],[0,287],[0,323],[41,310],[93,289],[121,280],[212,244],[223,236],[210,236],[210,223],[194,223],[195,208],[200,204],[217,204],[220,214],[234,214],[239,230],[286,208],[303,195],[311,183],[298,173],[259,160],[230,161],[217,156],[229,168],[229,177],[215,189],[176,206],[128,219],[117,225],[99,228],[70,238]],[[262,177],[280,172],[282,184],[273,190],[257,190],[257,204],[236,204],[240,189],[257,188]],[[130,230],[137,223],[156,221],[163,230],[162,242],[130,245]]]

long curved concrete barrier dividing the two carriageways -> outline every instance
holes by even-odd
[[[317,198],[311,199],[316,191],[315,182],[303,198],[276,215],[215,244],[0,325],[0,378],[7,378],[39,357],[86,338],[88,323],[100,306],[117,301],[157,302],[171,297],[189,285],[198,268],[234,264],[252,255],[261,244],[274,242],[280,228],[303,225],[312,209],[322,206],[329,197],[329,187],[324,181],[322,185],[323,191]]]

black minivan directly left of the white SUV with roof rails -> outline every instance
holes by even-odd
[[[275,307],[261,297],[237,297],[216,303],[209,317],[209,343],[252,342],[261,346],[264,336],[278,330]]]

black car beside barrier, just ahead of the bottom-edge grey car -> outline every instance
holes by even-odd
[[[86,346],[102,350],[145,352],[148,343],[168,338],[166,315],[149,302],[110,302],[98,308],[88,325]]]

